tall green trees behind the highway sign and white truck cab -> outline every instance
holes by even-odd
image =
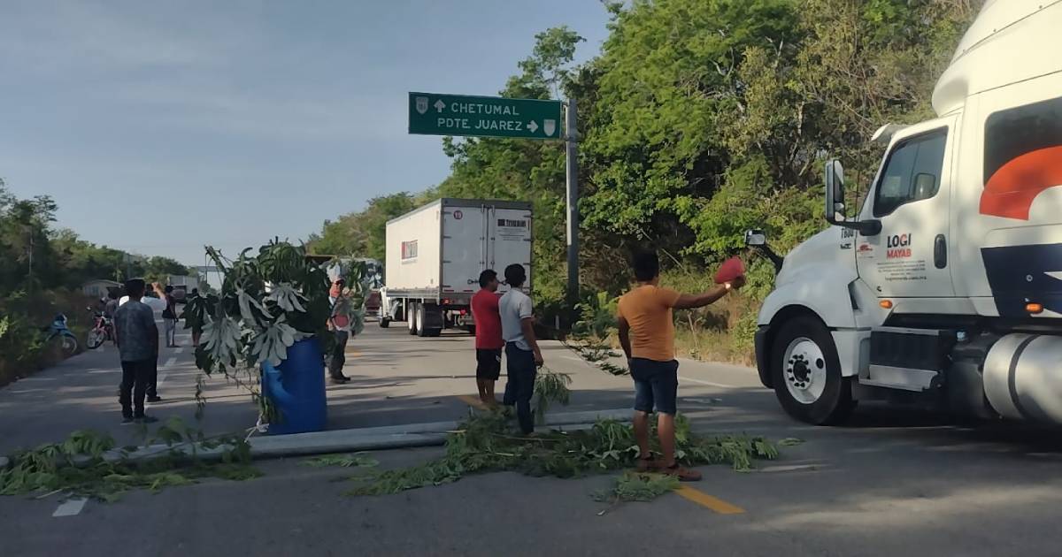
[[[709,286],[721,261],[743,255],[741,295],[680,312],[675,326],[685,354],[749,363],[773,268],[746,251],[743,230],[765,229],[781,254],[821,230],[829,157],[867,191],[881,155],[871,136],[931,115],[936,76],[981,3],[606,2],[610,35],[581,65],[576,31],[539,33],[500,93],[578,102],[583,298],[623,292],[622,262],[637,247],[656,248],[664,283],[685,291]],[[311,249],[382,259],[387,220],[428,201],[530,201],[534,296],[551,324],[566,307],[563,144],[444,138],[443,150],[452,160],[445,180],[326,222]]]

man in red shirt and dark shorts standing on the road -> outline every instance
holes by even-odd
[[[495,406],[494,382],[501,375],[501,315],[498,313],[498,274],[486,269],[479,274],[480,290],[472,297],[472,317],[476,321],[476,387],[484,404]]]

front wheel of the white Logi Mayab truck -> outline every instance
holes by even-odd
[[[815,425],[844,421],[852,413],[851,379],[841,377],[834,337],[819,319],[785,323],[771,349],[774,394],[792,417]]]

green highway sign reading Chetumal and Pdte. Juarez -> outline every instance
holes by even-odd
[[[561,139],[561,101],[411,92],[409,133]]]

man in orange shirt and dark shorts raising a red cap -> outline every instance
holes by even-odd
[[[619,344],[634,379],[634,436],[638,440],[638,470],[657,468],[684,482],[701,478],[697,470],[681,468],[674,458],[674,414],[679,390],[679,362],[674,359],[671,310],[702,308],[744,285],[744,277],[703,294],[680,294],[660,288],[660,259],[655,253],[634,256],[638,285],[619,298]],[[655,407],[662,459],[649,450],[649,414]]]

